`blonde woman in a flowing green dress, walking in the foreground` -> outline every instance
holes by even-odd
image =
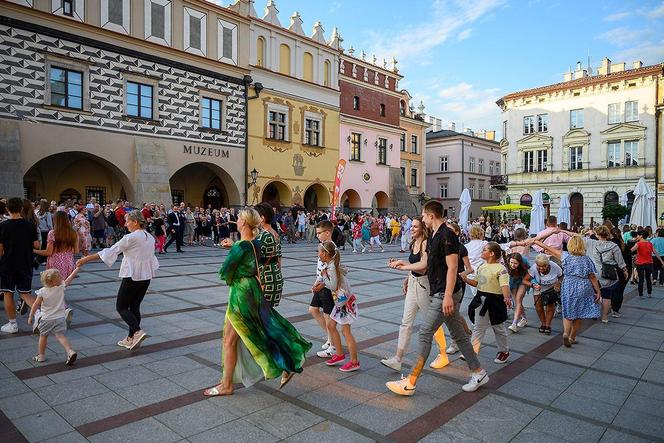
[[[224,320],[221,382],[205,396],[231,395],[233,383],[251,386],[262,378],[281,375],[283,387],[302,372],[311,343],[272,308],[258,281],[260,245],[255,240],[261,219],[255,209],[243,209],[237,225],[240,241],[233,244],[219,276],[229,286]],[[231,240],[224,240],[228,247]]]

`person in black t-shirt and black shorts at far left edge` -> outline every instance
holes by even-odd
[[[9,322],[2,332],[16,334],[16,306],[14,291],[30,306],[32,292],[32,250],[39,249],[36,227],[21,217],[23,200],[14,197],[7,201],[9,219],[0,223],[0,291],[5,299],[5,312]]]

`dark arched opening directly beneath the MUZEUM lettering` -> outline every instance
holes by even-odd
[[[233,178],[214,163],[189,163],[175,171],[169,183],[174,201],[183,199],[192,206],[212,204],[213,209],[242,204]]]

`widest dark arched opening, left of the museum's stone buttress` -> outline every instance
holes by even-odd
[[[122,169],[82,151],[59,152],[37,160],[23,174],[23,186],[30,199],[59,201],[61,195],[72,195],[72,190],[84,200],[88,194],[106,202],[118,198],[133,201],[135,196],[132,182]]]

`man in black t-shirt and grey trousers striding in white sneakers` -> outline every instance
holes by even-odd
[[[459,313],[461,302],[461,281],[458,275],[459,238],[443,220],[443,206],[437,201],[429,201],[422,208],[422,221],[433,232],[427,241],[427,276],[431,294],[431,304],[420,329],[420,351],[413,371],[403,380],[386,383],[395,394],[411,396],[415,393],[417,378],[420,376],[429,353],[434,333],[442,326],[452,335],[466,358],[471,377],[463,390],[472,392],[489,381],[486,371],[480,366],[477,355],[462,326],[463,317]]]

